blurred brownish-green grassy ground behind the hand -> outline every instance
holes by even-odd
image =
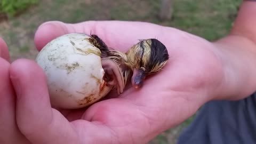
[[[172,19],[161,21],[157,18],[161,0],[42,0],[17,17],[2,21],[0,36],[9,45],[11,61],[36,57],[35,31],[41,23],[50,20],[70,23],[86,20],[147,21],[214,41],[228,34],[241,3],[242,0],[174,0]],[[192,119],[159,134],[150,143],[175,143],[181,130]]]

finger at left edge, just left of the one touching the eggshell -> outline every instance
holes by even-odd
[[[28,143],[15,122],[15,97],[9,78],[10,63],[0,58],[0,143]],[[13,139],[15,138],[15,139]]]

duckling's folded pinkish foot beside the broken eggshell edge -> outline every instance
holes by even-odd
[[[102,58],[102,68],[105,71],[105,81],[108,86],[115,86],[117,93],[121,94],[124,90],[124,77],[122,71],[114,60]]]

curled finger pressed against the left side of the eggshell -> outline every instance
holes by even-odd
[[[46,78],[35,62],[14,61],[10,77],[17,93],[17,124],[32,143],[78,143],[67,119],[51,108]]]

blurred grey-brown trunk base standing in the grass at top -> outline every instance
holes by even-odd
[[[162,6],[159,13],[161,20],[167,20],[172,18],[173,12],[173,0],[162,0]]]

